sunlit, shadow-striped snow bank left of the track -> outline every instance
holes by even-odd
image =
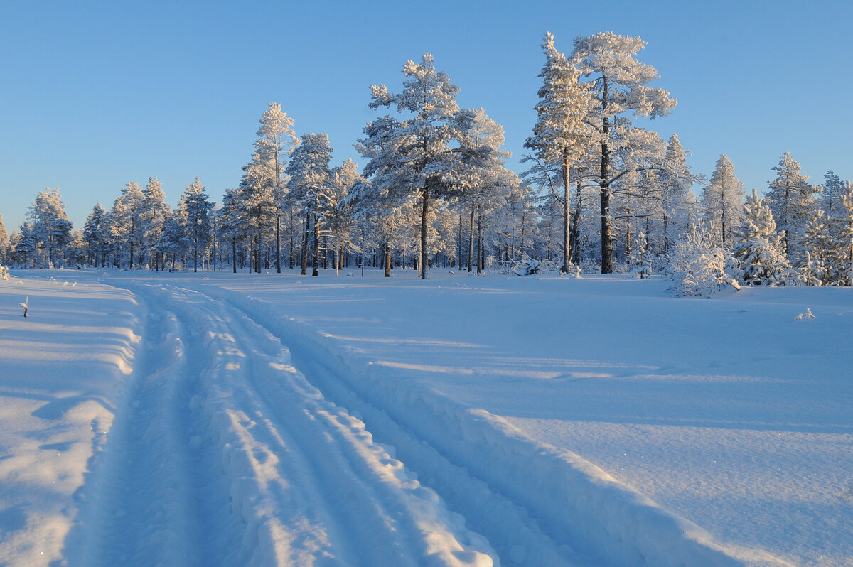
[[[0,283],[0,563],[61,559],[132,370],[137,314],[109,286]]]

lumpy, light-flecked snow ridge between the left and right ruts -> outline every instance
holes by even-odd
[[[204,391],[193,405],[223,448],[247,564],[492,563],[477,551],[485,541],[309,385],[277,338],[198,292],[155,294],[194,337]]]

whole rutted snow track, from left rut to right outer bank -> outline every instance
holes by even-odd
[[[127,286],[147,349],[68,564],[780,564],[258,300]]]

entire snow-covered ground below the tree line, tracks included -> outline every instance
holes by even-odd
[[[0,564],[853,564],[851,289],[12,274]]]

